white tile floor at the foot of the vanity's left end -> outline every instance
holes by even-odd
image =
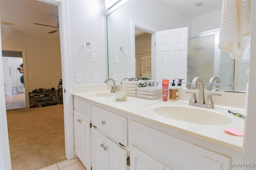
[[[78,158],[63,160],[40,170],[86,170]]]

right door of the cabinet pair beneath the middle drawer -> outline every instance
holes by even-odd
[[[128,158],[128,151],[122,149],[116,143],[105,138],[104,150],[106,151],[106,169],[107,170],[128,170],[126,158]]]

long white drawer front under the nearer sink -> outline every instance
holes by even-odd
[[[228,170],[231,158],[132,121],[132,145],[174,169]]]

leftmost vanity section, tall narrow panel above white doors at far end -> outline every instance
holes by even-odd
[[[75,153],[86,169],[91,168],[90,104],[74,98]]]

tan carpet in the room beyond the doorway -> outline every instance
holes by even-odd
[[[12,170],[37,170],[66,159],[62,105],[6,112]]]

